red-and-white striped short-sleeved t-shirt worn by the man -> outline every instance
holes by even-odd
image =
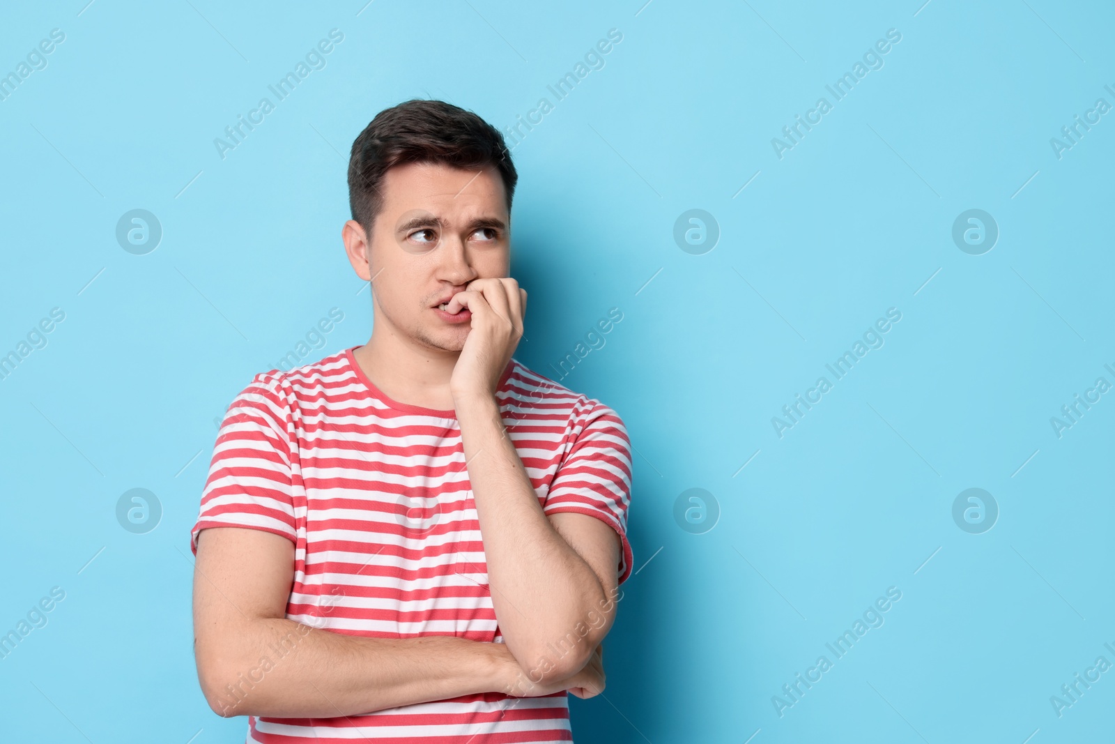
[[[515,359],[496,400],[543,511],[612,526],[624,581],[633,559],[623,422]],[[265,530],[294,543],[290,620],[351,636],[503,641],[456,413],[391,400],[351,348],[261,373],[236,396],[214,446],[194,553],[210,526]],[[249,716],[246,741],[491,744],[572,735],[562,690],[465,695],[336,718]]]

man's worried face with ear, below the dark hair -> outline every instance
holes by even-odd
[[[511,216],[500,172],[409,163],[390,168],[380,191],[384,209],[367,240],[357,239],[362,230],[353,221],[345,230],[352,267],[361,279],[374,278],[376,321],[459,351],[471,323],[450,322],[436,307],[475,279],[508,274]]]

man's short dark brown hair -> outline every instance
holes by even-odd
[[[384,175],[388,168],[407,163],[444,163],[460,168],[494,165],[503,177],[511,214],[518,174],[500,131],[459,106],[414,98],[376,114],[352,142],[349,207],[366,232],[384,209]]]

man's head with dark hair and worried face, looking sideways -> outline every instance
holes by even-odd
[[[408,100],[376,115],[352,143],[341,236],[357,274],[374,280],[377,326],[460,350],[469,325],[435,307],[508,274],[516,181],[503,136],[472,112]]]

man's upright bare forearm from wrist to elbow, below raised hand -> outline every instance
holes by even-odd
[[[537,668],[539,657],[551,655],[544,649],[566,641],[608,598],[592,568],[546,519],[495,399],[458,402],[457,419],[500,629],[521,666]],[[598,630],[560,661],[582,666]]]

